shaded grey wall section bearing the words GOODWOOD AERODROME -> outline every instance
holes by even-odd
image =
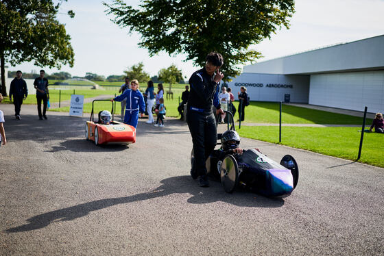
[[[251,101],[284,101],[284,95],[290,94],[291,102],[308,103],[309,75],[242,73],[228,86],[235,99],[240,87],[245,86]]]

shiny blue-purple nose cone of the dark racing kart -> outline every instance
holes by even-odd
[[[289,194],[293,191],[293,177],[291,170],[267,170],[271,185],[271,192],[275,195]]]

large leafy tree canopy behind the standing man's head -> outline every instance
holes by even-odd
[[[288,28],[294,12],[293,0],[142,0],[139,8],[114,0],[104,5],[112,22],[141,34],[139,46],[150,55],[185,53],[203,66],[209,52],[221,53],[224,81],[239,75],[240,64],[261,57],[250,45]]]

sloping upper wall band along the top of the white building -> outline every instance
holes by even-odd
[[[244,66],[244,73],[312,74],[384,69],[384,35]]]

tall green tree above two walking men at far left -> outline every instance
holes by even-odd
[[[67,0],[64,0],[67,1]],[[71,37],[56,18],[62,1],[1,0],[0,1],[0,65],[1,92],[5,88],[5,62],[12,66],[33,61],[36,66],[60,68],[73,66]],[[74,13],[68,12],[73,18]]]

